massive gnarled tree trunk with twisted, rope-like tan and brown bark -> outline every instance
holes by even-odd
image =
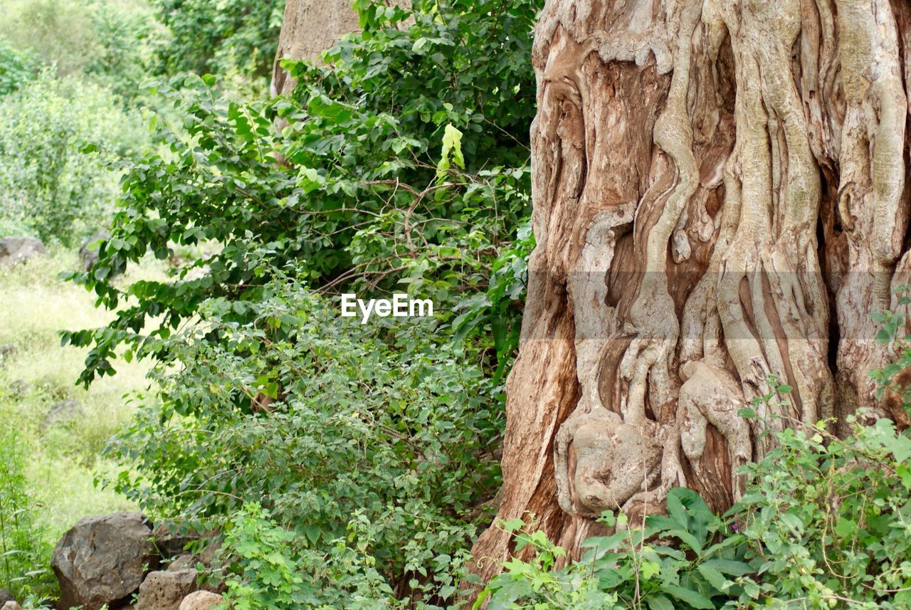
[[[498,518],[574,553],[670,486],[721,510],[769,416],[874,404],[866,314],[911,270],[909,52],[906,0],[548,0]],[[770,375],[790,403],[743,419]],[[492,526],[478,571],[509,551]]]

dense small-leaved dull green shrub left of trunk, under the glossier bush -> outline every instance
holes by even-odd
[[[240,305],[256,323],[222,319]],[[199,324],[162,343],[181,362],[157,374],[163,403],[141,411],[112,448],[129,467],[118,490],[200,526],[261,503],[288,534],[259,544],[281,543],[289,561],[323,566],[295,572],[303,582],[281,576],[294,591],[281,595],[308,604],[361,595],[372,570],[417,597],[452,601],[452,557],[490,517],[475,505],[496,491],[487,443],[502,413],[486,401],[481,371],[428,339],[439,335],[437,320],[386,331],[394,345],[382,327],[340,319],[309,290],[277,281],[255,301],[207,301]],[[258,407],[265,396],[279,399],[268,413]],[[238,535],[249,518],[230,516]],[[373,559],[349,564],[336,548],[346,536],[357,557]],[[236,591],[265,600],[266,568],[254,569],[262,558],[246,540],[227,544],[243,558]],[[287,563],[276,562],[269,569]],[[271,607],[300,607],[281,595]]]

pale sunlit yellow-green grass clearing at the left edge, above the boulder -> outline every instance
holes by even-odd
[[[56,279],[76,264],[75,252],[59,250],[15,269],[0,269],[0,348],[15,347],[0,359],[0,430],[12,427],[26,444],[29,493],[41,535],[51,546],[88,514],[134,508],[117,493],[96,488],[94,480],[112,467],[101,452],[128,421],[128,394],[148,389],[146,364],[124,361],[116,364],[117,375],[88,390],[75,385],[87,351],[61,347],[57,330],[96,327],[111,318],[94,308],[86,290]],[[149,263],[123,280],[162,270]],[[77,401],[80,412],[47,426],[47,413],[67,400]]]

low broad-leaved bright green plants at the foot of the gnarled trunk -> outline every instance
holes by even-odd
[[[589,538],[578,562],[555,569],[565,552],[540,532],[518,534],[516,550],[534,547],[530,562],[514,558],[478,597],[475,607],[606,610],[719,608],[729,600],[748,600],[757,589],[744,561],[742,534],[715,516],[699,495],[675,488],[668,493],[667,515],[653,514],[645,527],[629,527],[626,517],[605,513],[601,522],[613,534]],[[502,524],[507,531],[521,520]]]

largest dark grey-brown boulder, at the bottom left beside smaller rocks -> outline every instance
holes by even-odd
[[[140,513],[86,517],[64,534],[51,556],[60,583],[58,608],[97,610],[129,601],[142,584],[154,549],[152,528]]]

